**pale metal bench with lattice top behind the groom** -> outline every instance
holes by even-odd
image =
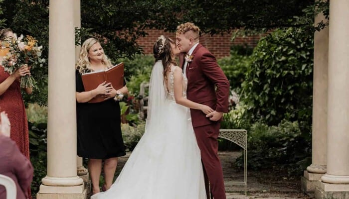
[[[247,195],[247,130],[244,129],[220,129],[218,137],[224,138],[244,149],[244,181],[227,181],[225,185],[245,185]]]

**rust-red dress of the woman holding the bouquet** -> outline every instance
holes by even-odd
[[[0,65],[0,83],[9,76]],[[0,95],[0,111],[7,113],[11,123],[11,139],[16,142],[20,152],[29,158],[29,132],[23,98],[20,93],[20,82],[14,81],[8,89]],[[28,190],[30,198],[30,189]]]

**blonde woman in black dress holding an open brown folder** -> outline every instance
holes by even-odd
[[[92,181],[92,194],[100,192],[99,178],[104,160],[102,190],[113,183],[118,157],[126,155],[121,134],[119,100],[128,92],[126,84],[115,89],[110,82],[103,82],[91,91],[85,91],[81,76],[85,73],[105,71],[113,65],[105,55],[101,43],[95,38],[87,39],[81,46],[76,63],[76,120],[77,154],[88,158],[88,170]],[[101,102],[89,103],[96,97]]]

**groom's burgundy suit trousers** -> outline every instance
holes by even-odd
[[[209,125],[194,127],[194,132],[201,150],[203,169],[210,184],[211,194],[214,199],[226,199],[222,165],[218,157],[217,138],[219,128],[220,122],[214,122]],[[205,178],[205,187],[206,193],[209,194],[207,178]]]

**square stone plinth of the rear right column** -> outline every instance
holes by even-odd
[[[313,193],[315,187],[320,186],[320,179],[324,174],[315,174],[304,171],[304,176],[301,177],[301,190],[305,194]]]

